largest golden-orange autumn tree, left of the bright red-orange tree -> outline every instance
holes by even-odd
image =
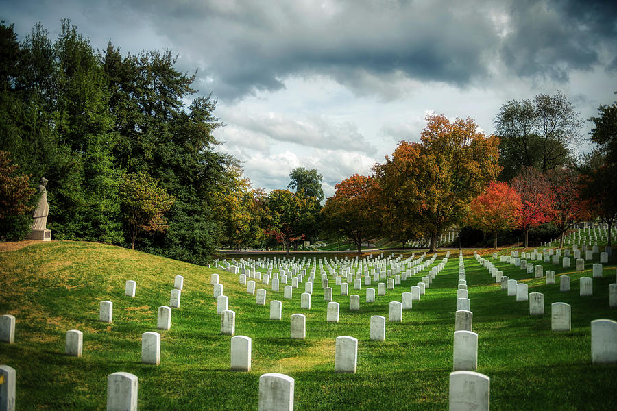
[[[451,123],[428,114],[421,143],[400,142],[392,158],[374,167],[381,203],[398,221],[413,223],[413,232],[437,238],[459,223],[469,202],[496,178],[498,138],[478,132],[472,119]]]

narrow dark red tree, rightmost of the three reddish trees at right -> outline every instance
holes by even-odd
[[[579,190],[579,175],[574,169],[564,167],[548,171],[547,178],[555,196],[549,218],[559,231],[559,247],[564,247],[566,229],[585,211]]]

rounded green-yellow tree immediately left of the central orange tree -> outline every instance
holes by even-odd
[[[306,237],[306,229],[314,225],[315,202],[304,192],[272,190],[264,201],[267,231],[280,233],[285,241],[285,256],[291,243]]]

